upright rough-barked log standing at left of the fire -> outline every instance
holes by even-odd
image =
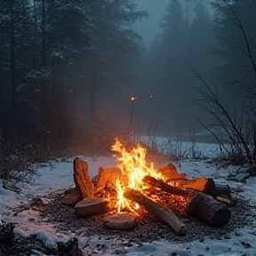
[[[76,157],[73,161],[74,181],[76,189],[81,191],[83,198],[94,196],[94,186],[88,173],[87,162]]]

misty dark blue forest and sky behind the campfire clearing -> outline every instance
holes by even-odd
[[[254,104],[244,35],[254,58],[255,11],[242,0],[1,1],[1,147],[195,136],[215,125],[197,72],[240,116]]]

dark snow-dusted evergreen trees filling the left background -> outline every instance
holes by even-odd
[[[141,43],[130,25],[145,12],[135,7],[132,0],[0,1],[1,148],[93,139],[102,119],[97,93],[137,76]]]

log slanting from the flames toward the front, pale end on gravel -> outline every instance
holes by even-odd
[[[144,196],[139,191],[126,188],[124,191],[124,196],[127,199],[132,200],[142,206],[144,206],[148,212],[151,212],[158,220],[163,221],[170,228],[172,228],[177,235],[186,235],[188,228],[186,225],[178,219],[178,217],[169,209],[156,204],[150,200],[147,196]]]

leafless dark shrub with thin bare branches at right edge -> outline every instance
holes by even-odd
[[[239,46],[238,48],[243,51],[246,57],[248,57],[248,61],[250,62],[250,65],[252,65],[253,79],[252,83],[250,83],[251,94],[244,99],[244,105],[240,115],[232,116],[226,104],[220,99],[218,88],[215,87],[215,89],[212,89],[212,87],[206,83],[204,77],[201,76],[196,69],[192,68],[196,75],[196,79],[199,80],[202,85],[196,87],[196,91],[199,92],[203,98],[198,105],[212,116],[214,125],[218,126],[224,133],[226,142],[228,142],[228,145],[232,148],[232,153],[235,154],[236,157],[240,156],[240,164],[242,164],[241,161],[253,164],[256,161],[256,63],[251,46],[253,38],[252,40],[249,40],[242,20],[234,11],[232,4],[230,4],[229,1],[225,1],[225,4],[226,12],[228,12],[230,14],[229,17],[231,17],[230,22],[239,28],[241,35],[243,36],[245,47]],[[244,85],[249,86],[248,83],[244,83]],[[220,134],[212,131],[209,126],[203,124],[201,121],[199,122],[212,134],[221,146],[224,145],[224,139],[223,137],[220,137]],[[228,148],[222,148],[228,153]]]

